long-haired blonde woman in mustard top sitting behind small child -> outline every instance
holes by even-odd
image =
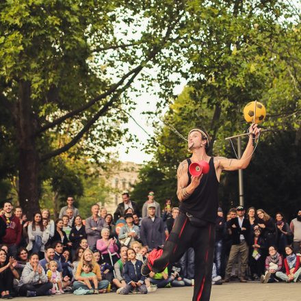
[[[88,289],[87,285],[84,283],[81,283],[83,281],[83,277],[81,277],[81,272],[83,271],[83,263],[90,263],[92,265],[92,272],[96,274],[97,280],[98,280],[98,289],[100,293],[103,293],[107,290],[107,287],[109,286],[109,281],[102,280],[101,278],[101,269],[99,265],[95,262],[95,259],[93,257],[93,253],[90,249],[86,249],[83,252],[83,256],[81,257],[81,260],[79,261],[79,264],[77,265],[77,272],[75,274],[75,282],[73,283],[73,289],[79,289],[81,287],[82,289]]]

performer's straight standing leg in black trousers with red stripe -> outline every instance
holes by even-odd
[[[209,301],[214,257],[215,224],[194,227],[191,237],[195,252],[193,301]]]

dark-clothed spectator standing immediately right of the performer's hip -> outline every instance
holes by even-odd
[[[222,268],[222,241],[224,238],[224,217],[222,208],[218,208],[218,216],[215,222],[215,248],[214,261],[216,265],[216,273],[220,276]]]

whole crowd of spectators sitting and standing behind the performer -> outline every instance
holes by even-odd
[[[170,199],[161,210],[148,193],[140,212],[128,193],[114,215],[95,204],[83,220],[73,197],[51,220],[49,209],[27,220],[21,207],[3,202],[0,216],[1,298],[73,292],[96,294],[150,293],[157,288],[194,285],[194,250],[161,273],[141,274],[148,253],[162,246],[172,231],[179,208]],[[301,282],[301,210],[290,222],[263,209],[232,208],[215,225],[212,284],[239,280]],[[223,278],[223,280],[222,280]]]

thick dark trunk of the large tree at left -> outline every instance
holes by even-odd
[[[16,137],[19,149],[19,202],[27,218],[40,210],[38,167],[39,157],[35,144],[35,122],[32,114],[29,81],[19,83],[18,120]]]

